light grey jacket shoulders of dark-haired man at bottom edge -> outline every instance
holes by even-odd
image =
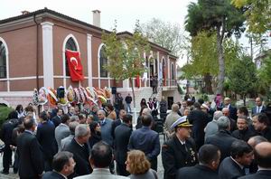
[[[127,179],[126,176],[111,174],[107,168],[95,168],[92,174],[86,174],[74,179]]]

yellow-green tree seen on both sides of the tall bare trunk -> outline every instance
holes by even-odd
[[[190,53],[192,60],[189,64],[182,67],[184,78],[203,78],[205,83],[203,92],[212,94],[211,84],[217,83],[217,76],[219,74],[216,34],[209,34],[206,32],[198,33],[197,36],[192,37],[191,43],[192,47]],[[223,42],[223,48],[227,70],[232,61],[238,57],[240,47],[238,43],[233,42],[232,39],[228,38]],[[227,72],[228,71],[226,71],[226,74]]]

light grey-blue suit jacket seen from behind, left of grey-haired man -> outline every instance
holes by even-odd
[[[61,139],[70,136],[70,128],[67,125],[61,123],[58,127],[55,128],[54,136],[55,136],[55,139],[58,144],[58,150],[60,152],[61,151]]]

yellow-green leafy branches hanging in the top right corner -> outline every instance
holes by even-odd
[[[232,0],[233,5],[246,10],[248,31],[266,33],[271,30],[271,0]]]

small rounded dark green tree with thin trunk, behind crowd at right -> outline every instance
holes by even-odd
[[[241,95],[246,106],[248,93],[257,88],[257,71],[251,58],[243,56],[237,59],[229,70],[228,79],[229,89]]]

